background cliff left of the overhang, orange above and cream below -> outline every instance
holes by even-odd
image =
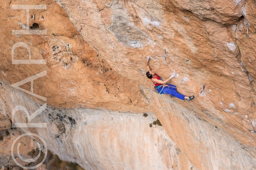
[[[0,13],[5,17],[0,29],[5,42],[1,45],[0,58],[0,167],[18,167],[11,156],[11,147],[23,132],[42,136],[48,149],[62,160],[76,162],[85,169],[195,168],[163,127],[149,127],[156,118],[152,112],[148,113],[150,109],[140,93],[140,85],[114,71],[83,40],[58,4],[50,0],[33,3],[47,4],[47,10],[30,11],[30,29],[38,23],[39,28],[35,30],[47,29],[47,35],[12,35],[12,30],[24,29],[26,13],[11,7],[28,3],[3,2],[0,6]],[[17,42],[29,46],[32,59],[46,59],[47,64],[12,64],[11,51]],[[15,49],[14,59],[28,58],[25,48]],[[47,75],[34,81],[33,92],[47,98],[47,110],[32,122],[47,122],[47,128],[12,129],[12,110],[17,105],[30,113],[45,103],[10,85],[45,70]],[[31,91],[29,82],[20,87]],[[80,107],[86,108],[66,109]],[[143,112],[149,116],[139,114]],[[15,121],[26,122],[27,118],[23,112],[17,112]],[[26,145],[22,145],[20,153],[32,158],[28,153],[37,147],[38,139],[32,136],[32,139],[20,140]],[[17,161],[28,166],[19,158]]]

